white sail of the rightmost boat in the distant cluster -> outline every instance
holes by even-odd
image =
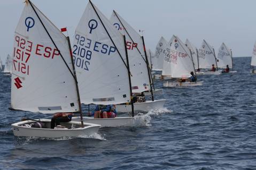
[[[232,68],[231,51],[224,43],[222,43],[219,48],[217,63],[218,63],[218,68],[226,68],[227,65],[229,66],[229,68]]]

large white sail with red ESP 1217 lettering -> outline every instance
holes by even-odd
[[[11,107],[44,114],[79,111],[67,38],[32,5],[26,3],[15,29]]]

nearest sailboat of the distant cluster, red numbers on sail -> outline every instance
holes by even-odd
[[[173,42],[170,45],[169,56],[165,58],[164,69],[165,75],[169,75],[172,78],[189,78],[190,72],[195,73],[195,67],[192,60],[192,55],[187,46],[179,39],[179,37],[173,35]],[[169,64],[169,65],[168,65]],[[201,86],[203,82],[170,82],[167,81],[163,85],[164,87],[180,87],[180,86]]]

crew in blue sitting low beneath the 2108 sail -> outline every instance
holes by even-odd
[[[102,105],[99,104],[94,110],[94,118],[115,118],[117,117],[117,110],[112,104]]]

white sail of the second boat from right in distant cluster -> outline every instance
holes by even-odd
[[[198,50],[199,68],[212,68],[212,64],[216,67],[216,59],[213,47],[203,40],[201,48]]]

